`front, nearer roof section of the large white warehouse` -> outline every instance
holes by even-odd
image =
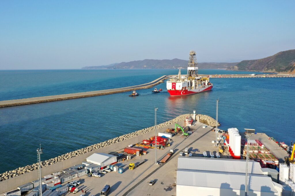
[[[249,174],[248,189],[261,192],[277,192],[270,177]],[[177,185],[245,190],[245,174],[223,171],[177,170]]]

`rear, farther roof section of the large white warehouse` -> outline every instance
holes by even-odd
[[[245,173],[246,160],[235,159],[211,159],[201,157],[178,157],[178,169],[196,169],[204,171],[225,171]],[[262,174],[258,162],[248,161],[248,172],[250,174]]]

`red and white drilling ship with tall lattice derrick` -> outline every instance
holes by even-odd
[[[187,75],[181,76],[179,69],[178,76],[170,77],[167,81],[167,90],[171,96],[184,96],[209,91],[213,84],[209,82],[208,77],[198,76],[196,51],[189,52],[189,64]]]

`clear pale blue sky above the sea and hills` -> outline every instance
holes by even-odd
[[[295,49],[295,1],[0,1],[0,69],[236,62]]]

